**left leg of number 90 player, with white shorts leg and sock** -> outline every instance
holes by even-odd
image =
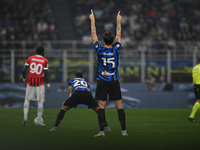
[[[24,121],[23,121],[22,125],[26,125],[27,124],[30,100],[32,100],[34,98],[35,98],[35,87],[27,85],[25,101],[24,101],[24,108],[23,108]]]

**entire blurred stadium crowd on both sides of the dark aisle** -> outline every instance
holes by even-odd
[[[105,30],[115,33],[113,24],[121,10],[122,42],[131,41],[199,41],[199,0],[66,0],[73,8],[78,37],[91,44],[92,8],[96,17],[99,40]],[[48,0],[0,1],[0,48],[9,48],[6,41],[59,40],[60,32]],[[65,39],[61,39],[65,40]],[[31,47],[31,45],[29,45]]]

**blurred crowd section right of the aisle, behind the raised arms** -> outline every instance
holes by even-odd
[[[85,42],[89,41],[90,9],[94,9],[100,40],[104,31],[115,33],[115,18],[120,10],[122,42],[199,41],[199,0],[73,0],[75,25]]]

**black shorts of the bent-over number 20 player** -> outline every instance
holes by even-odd
[[[75,108],[79,104],[87,105],[88,108],[98,107],[98,104],[93,98],[91,92],[88,91],[76,91],[64,103],[65,106]]]

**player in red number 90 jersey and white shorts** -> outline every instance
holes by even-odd
[[[26,72],[28,70],[28,78]],[[45,101],[44,80],[47,83],[47,92],[50,92],[50,83],[48,79],[48,60],[44,57],[44,48],[39,46],[36,49],[36,55],[30,56],[22,71],[24,87],[26,87],[26,95],[24,101],[24,121],[23,125],[27,124],[28,110],[31,100],[36,98],[38,102],[37,117],[35,118],[36,125],[45,125],[43,123],[43,103]]]

